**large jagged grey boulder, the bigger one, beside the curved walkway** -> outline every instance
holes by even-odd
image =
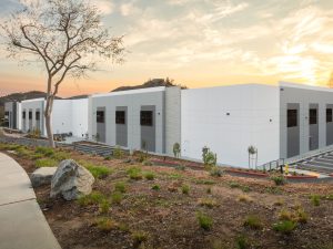
[[[92,190],[93,176],[72,159],[62,160],[51,180],[51,197],[62,195],[67,200],[78,199]]]

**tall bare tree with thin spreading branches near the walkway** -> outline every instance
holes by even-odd
[[[110,35],[98,9],[87,0],[31,2],[11,14],[1,28],[9,56],[20,61],[33,58],[46,69],[46,127],[54,147],[51,114],[60,84],[67,77],[80,79],[95,71],[99,59],[122,62],[123,37]]]

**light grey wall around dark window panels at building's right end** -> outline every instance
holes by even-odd
[[[280,83],[280,157],[287,158],[287,127],[286,112],[289,104],[299,104],[300,106],[300,155],[310,151],[310,134],[317,136],[319,148],[326,146],[326,106],[333,104],[333,90],[324,87],[311,87],[291,83]],[[310,107],[317,107],[317,125],[309,125]]]

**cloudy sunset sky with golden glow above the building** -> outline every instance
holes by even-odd
[[[28,1],[28,0],[26,0]],[[18,0],[0,0],[0,21]],[[125,63],[67,80],[61,96],[171,77],[189,87],[290,81],[326,85],[333,72],[333,0],[92,0],[124,34]],[[36,64],[0,49],[0,95],[46,91]]]

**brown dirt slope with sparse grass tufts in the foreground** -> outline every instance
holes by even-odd
[[[8,154],[28,174],[36,169],[33,159]],[[142,166],[77,152],[71,152],[71,158],[113,169],[93,185],[93,191],[101,193],[111,205],[101,214],[99,204],[51,199],[50,186],[36,188],[38,201],[63,249],[333,248],[332,184],[275,186],[268,179],[212,177],[205,170]],[[154,179],[131,179],[127,170],[133,166],[153,173]],[[112,201],[119,181],[127,189],[120,201]],[[153,190],[153,186],[160,189]],[[319,206],[311,200],[312,195],[320,196]],[[297,222],[294,230],[283,234],[273,229],[281,211],[294,212],[300,208],[306,214],[306,220]],[[211,217],[211,229],[199,226],[199,212]],[[249,216],[258,217],[259,228],[244,226]],[[97,220],[101,218],[111,221],[108,229],[98,226]]]

